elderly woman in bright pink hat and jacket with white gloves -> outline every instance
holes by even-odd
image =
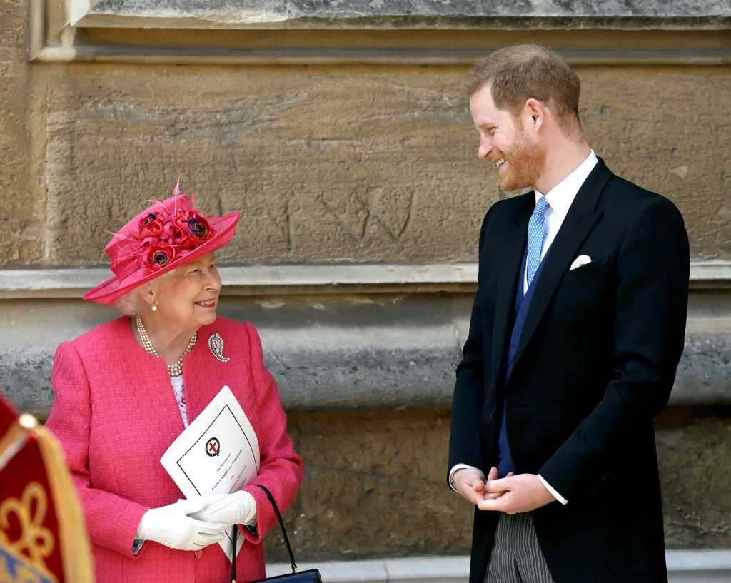
[[[302,460],[286,433],[276,384],[254,327],[216,317],[213,251],[238,213],[203,216],[175,186],[116,233],[113,278],[84,298],[124,317],[62,343],[47,427],[64,447],[86,514],[96,582],[222,583],[230,558],[216,544],[239,525],[239,581],[265,576],[262,537],[276,516],[261,489],[180,500],[160,457],[228,385],[257,434],[256,482],[287,507]]]

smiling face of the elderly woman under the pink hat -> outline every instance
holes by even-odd
[[[154,283],[156,317],[166,324],[194,331],[216,319],[221,277],[212,253],[178,267]]]

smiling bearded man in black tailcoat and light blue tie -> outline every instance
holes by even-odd
[[[653,418],[683,351],[683,218],[596,157],[550,50],[498,50],[463,88],[477,156],[504,190],[532,188],[485,215],[457,368],[470,583],[667,582]]]

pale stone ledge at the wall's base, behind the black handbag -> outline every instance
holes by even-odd
[[[668,583],[711,583],[731,580],[731,550],[665,552]],[[412,557],[298,563],[300,571],[318,568],[328,583],[465,583],[469,557]],[[267,575],[291,572],[288,564],[267,565]]]

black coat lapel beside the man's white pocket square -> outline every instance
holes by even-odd
[[[520,334],[518,348],[515,351],[514,367],[518,365],[520,355],[526,348],[531,336],[535,332],[558,282],[566,273],[572,259],[580,245],[594,229],[594,225],[601,218],[601,211],[596,211],[596,203],[602,194],[608,180],[613,176],[604,161],[599,159],[591,173],[584,181],[576,194],[574,202],[569,207],[569,213],[564,219],[561,229],[558,229],[556,238],[545,256],[542,273],[536,281],[536,289],[526,313],[523,332]]]

